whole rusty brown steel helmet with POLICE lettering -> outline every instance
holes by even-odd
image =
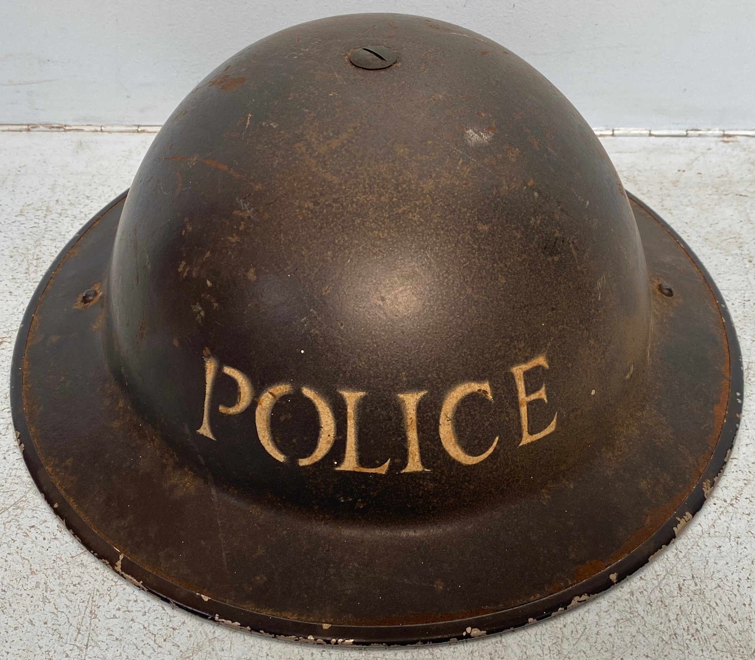
[[[742,381],[710,276],[553,85],[358,14],[186,97],[39,285],[11,401],[35,482],[129,581],[406,644],[646,563],[716,483]]]

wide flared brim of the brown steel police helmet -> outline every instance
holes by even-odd
[[[14,350],[11,406],[26,465],[55,513],[103,562],[171,603],[321,643],[516,628],[647,563],[726,464],[744,378],[732,319],[686,243],[630,196],[653,288],[649,373],[611,449],[557,497],[528,494],[416,529],[250,506],[180,464],[109,370],[103,302],[125,198],[82,228],[35,291]],[[673,295],[661,291],[666,282]],[[575,547],[594,559],[578,563]]]

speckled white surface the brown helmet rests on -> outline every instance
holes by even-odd
[[[0,656],[7,658],[750,658],[755,655],[755,138],[608,137],[628,190],[692,246],[734,318],[744,415],[719,485],[676,543],[584,605],[511,633],[404,650],[324,649],[223,628],[139,591],[85,551],[32,483],[8,373],[37,282],[130,184],[144,134],[0,133]]]

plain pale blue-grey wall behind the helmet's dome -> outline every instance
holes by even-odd
[[[0,0],[0,123],[161,124],[245,45],[359,11],[482,32],[595,127],[755,128],[755,0]]]

